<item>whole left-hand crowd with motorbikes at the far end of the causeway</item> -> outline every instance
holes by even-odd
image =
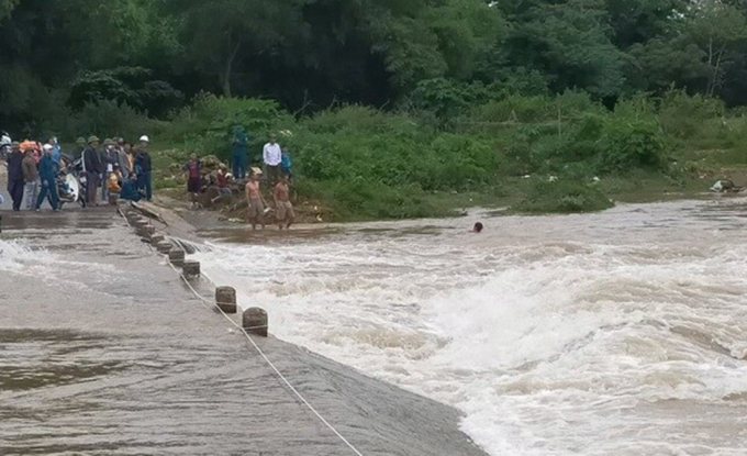
[[[77,147],[64,153],[56,137],[37,141],[0,138],[0,157],[8,168],[8,192],[14,211],[22,205],[40,211],[45,200],[54,211],[65,202],[96,207],[110,194],[138,201],[153,198],[153,165],[149,138],[141,136],[136,146],[124,138],[79,137]],[[99,200],[99,196],[101,200]],[[25,202],[25,203],[24,203]]]

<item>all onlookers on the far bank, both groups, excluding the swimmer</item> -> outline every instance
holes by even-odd
[[[40,211],[45,200],[58,211],[65,202],[79,202],[83,207],[109,203],[113,199],[140,201],[153,198],[153,162],[148,152],[150,140],[140,137],[136,145],[123,137],[79,137],[76,147],[64,153],[56,137],[42,144],[37,141],[13,142],[5,133],[0,137],[0,158],[8,168],[8,191],[12,209]],[[266,225],[266,218],[275,212],[278,227],[289,229],[296,219],[290,201],[293,173],[290,152],[283,149],[275,134],[263,147],[261,165],[250,166],[249,142],[246,131],[236,126],[232,136],[232,168],[218,162],[212,170],[193,154],[183,165],[187,191],[192,207],[199,207],[198,197],[205,189],[215,188],[218,198],[233,194],[232,187],[243,188],[248,220],[253,229]],[[267,183],[271,204],[260,189]],[[112,198],[112,197],[116,198]]]

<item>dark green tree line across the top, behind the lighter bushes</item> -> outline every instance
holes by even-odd
[[[89,104],[150,116],[207,91],[437,104],[671,87],[747,103],[743,0],[0,0],[0,125]],[[419,104],[420,103],[420,104]]]

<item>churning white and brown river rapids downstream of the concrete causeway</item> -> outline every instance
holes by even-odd
[[[481,212],[226,235],[198,259],[278,337],[458,408],[492,455],[745,455],[745,214]]]

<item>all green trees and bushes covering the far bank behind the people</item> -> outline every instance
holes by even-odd
[[[746,16],[732,0],[0,0],[0,127],[147,132],[161,189],[188,153],[227,159],[235,124],[254,164],[280,132],[299,196],[333,220],[599,210],[744,169]]]

